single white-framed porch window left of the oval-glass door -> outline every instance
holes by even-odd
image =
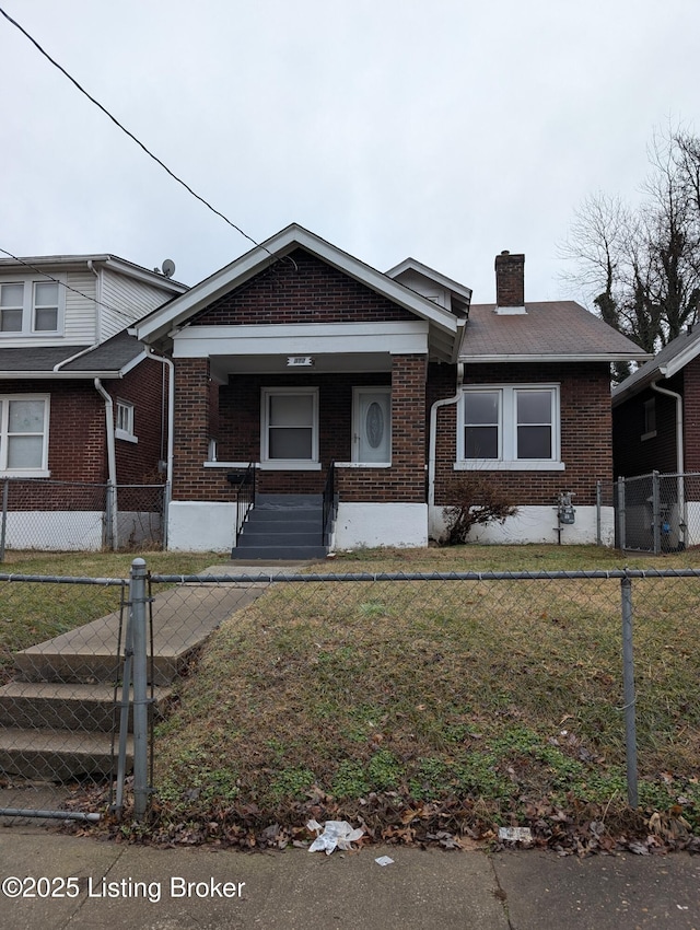
[[[318,462],[318,390],[262,388],[261,461],[294,467]]]

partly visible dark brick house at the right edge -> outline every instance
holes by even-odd
[[[612,427],[616,476],[700,473],[700,328],[688,328],[614,388]],[[628,527],[649,530],[651,486],[640,485],[639,500],[635,484],[627,487]],[[698,545],[699,483],[667,479],[661,495],[662,547]]]

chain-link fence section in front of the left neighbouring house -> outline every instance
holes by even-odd
[[[7,549],[160,548],[165,485],[95,485],[43,478],[0,484],[0,561]]]

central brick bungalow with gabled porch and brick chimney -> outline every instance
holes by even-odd
[[[320,495],[335,463],[339,549],[441,536],[469,470],[520,508],[485,538],[557,542],[569,491],[562,542],[595,540],[610,363],[646,356],[575,303],[525,303],[523,271],[499,256],[497,304],[472,306],[413,259],[382,274],[293,224],[142,319],[175,369],[170,547],[235,547],[250,463],[270,508]]]

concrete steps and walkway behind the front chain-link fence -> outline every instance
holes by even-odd
[[[265,588],[179,584],[154,597],[152,714],[162,713],[195,650]],[[109,614],[15,653],[16,677],[0,687],[0,775],[44,781],[110,775],[121,704],[119,623],[118,613]],[[129,739],[129,767],[131,749]]]

